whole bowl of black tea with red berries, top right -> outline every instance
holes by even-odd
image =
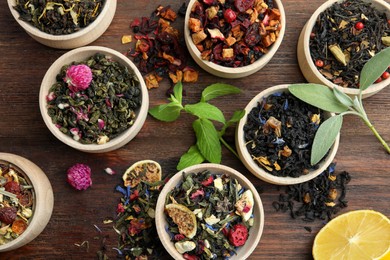
[[[382,0],[325,1],[301,31],[297,56],[310,83],[359,94],[363,66],[390,46],[390,4]],[[390,69],[367,89],[369,97],[390,84]]]

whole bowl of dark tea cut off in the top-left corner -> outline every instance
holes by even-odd
[[[17,23],[36,41],[73,49],[98,39],[109,27],[117,1],[8,0]]]

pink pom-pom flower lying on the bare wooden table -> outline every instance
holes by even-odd
[[[77,163],[68,169],[68,183],[76,190],[86,190],[92,185],[91,168]]]

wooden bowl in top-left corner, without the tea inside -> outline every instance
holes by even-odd
[[[8,7],[18,24],[37,42],[57,49],[73,49],[87,45],[99,38],[109,27],[114,18],[117,1],[105,1],[105,4],[95,21],[80,31],[67,35],[52,35],[45,33],[30,23],[19,19],[19,13],[13,8],[16,0],[7,0]]]

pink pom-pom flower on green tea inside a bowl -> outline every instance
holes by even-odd
[[[64,81],[73,92],[85,90],[92,81],[92,70],[84,64],[72,65],[66,70]]]

